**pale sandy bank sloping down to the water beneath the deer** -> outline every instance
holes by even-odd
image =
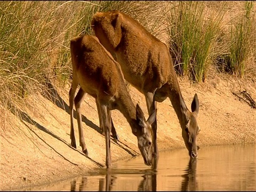
[[[188,108],[194,94],[198,94],[198,124],[201,127],[198,145],[201,148],[255,143],[256,110],[233,94],[241,95],[239,92],[246,90],[255,100],[255,80],[238,81],[230,76],[213,75],[205,83],[191,84],[186,79],[179,79]],[[40,93],[29,97],[29,105],[19,108],[22,119],[15,113],[0,111],[1,190],[76,177],[105,165],[105,138],[99,133],[97,107],[90,96],[83,103],[83,129],[89,158],[84,156],[81,147],[70,147],[68,91],[69,85],[62,90],[52,89],[50,95],[53,97],[50,98]],[[133,87],[130,93],[134,103],[139,102],[146,113],[143,95]],[[169,99],[158,103],[157,113],[159,150],[185,148],[178,118]],[[137,140],[126,119],[117,110],[112,114],[121,140],[119,143],[111,141],[113,161],[139,155]],[[76,121],[75,133],[79,146]],[[200,150],[198,153],[200,155]]]

